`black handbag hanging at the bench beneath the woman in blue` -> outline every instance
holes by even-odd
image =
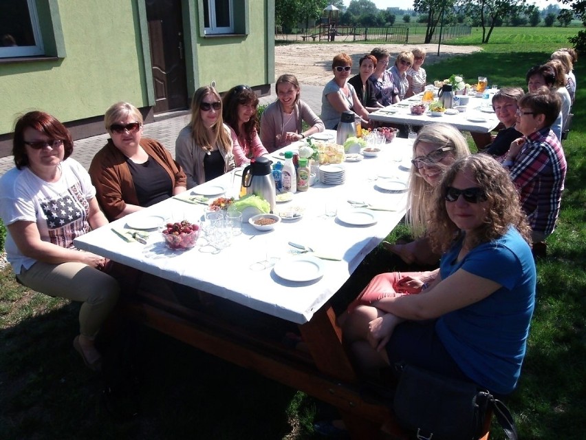
[[[398,423],[420,440],[477,440],[488,408],[507,437],[517,440],[510,411],[488,390],[409,365],[398,365],[399,383],[393,400]]]

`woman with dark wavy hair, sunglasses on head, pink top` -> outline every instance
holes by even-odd
[[[232,87],[224,95],[224,121],[230,127],[237,167],[247,165],[250,159],[268,154],[259,137],[257,107],[259,98],[248,85]]]

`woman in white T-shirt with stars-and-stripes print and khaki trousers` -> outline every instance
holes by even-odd
[[[74,238],[108,220],[87,171],[69,157],[72,152],[71,134],[50,114],[19,117],[12,145],[16,167],[0,178],[0,217],[8,229],[6,253],[17,280],[46,295],[83,303],[74,348],[89,368],[100,370],[94,339],[120,287],[106,273],[106,258],[74,247]]]

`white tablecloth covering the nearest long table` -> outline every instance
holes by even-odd
[[[332,186],[319,182],[307,192],[294,194],[293,200],[287,202],[287,205],[298,205],[305,209],[301,219],[284,220],[276,225],[274,231],[269,232],[257,231],[252,225],[243,224],[243,233],[234,238],[230,247],[217,254],[207,252],[211,248],[199,246],[175,253],[166,249],[158,231],[150,233],[147,244],[140,244],[125,242],[111,230],[111,227],[125,227],[127,222],[146,216],[193,221],[199,220],[204,214],[205,205],[191,205],[175,198],[91,231],[77,238],[75,244],[80,249],[116,262],[303,324],[340,289],[365,255],[404,216],[406,191],[389,193],[377,189],[376,184],[382,182],[382,177],[389,176],[406,182],[411,149],[411,141],[395,138],[392,143],[382,146],[376,158],[343,163],[346,169],[343,185]],[[395,161],[399,156],[404,159],[402,163]],[[228,187],[227,196],[239,190],[239,181],[232,185],[231,174],[204,185],[210,183]],[[353,209],[347,200],[387,205],[396,211],[372,211],[376,216],[376,224],[352,226],[340,222],[338,218],[326,218],[323,215],[325,200],[334,201],[338,213]],[[281,206],[284,204],[277,207]],[[305,244],[316,251],[327,249],[328,253],[339,253],[342,260],[321,260],[325,269],[323,277],[310,282],[283,280],[272,269],[251,269],[251,264],[267,257],[280,258],[281,261],[293,258],[294,255],[289,253],[292,248],[287,244],[290,241]]]

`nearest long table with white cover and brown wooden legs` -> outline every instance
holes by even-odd
[[[203,205],[190,205],[173,198],[91,231],[75,243],[80,249],[261,311],[271,315],[270,319],[276,317],[280,322],[285,319],[298,324],[309,354],[275,342],[274,335],[260,335],[246,324],[240,324],[237,318],[221,319],[206,310],[184,306],[152,293],[122,295],[120,299],[129,319],[336,406],[352,438],[376,439],[381,430],[404,438],[388,406],[376,403],[372,396],[365,399],[360,392],[354,365],[347,356],[336,315],[328,300],[404,215],[406,191],[380,191],[376,184],[388,176],[406,182],[411,150],[411,141],[395,138],[382,146],[377,158],[344,163],[345,184],[318,183],[305,193],[294,194],[293,200],[288,202],[305,208],[303,218],[281,222],[274,231],[264,233],[245,224],[243,233],[235,237],[233,244],[216,254],[203,252],[206,250],[203,247],[173,253],[164,247],[157,232],[151,233],[147,244],[140,244],[125,242],[111,231],[111,227],[124,227],[133,218],[144,216],[188,220],[202,216]],[[398,151],[404,158],[402,163],[393,160]],[[373,180],[375,178],[377,180]],[[228,195],[239,190],[239,182],[232,185],[230,174],[207,184],[226,185]],[[324,218],[325,200],[335,200],[338,211],[353,209],[347,200],[387,205],[395,211],[373,211],[376,224],[351,226],[337,219]],[[316,251],[327,248],[329,254],[339,253],[342,260],[323,260],[323,277],[303,283],[282,280],[270,268],[250,269],[252,263],[265,260],[268,255],[281,261],[293,258],[288,253],[287,242],[290,241],[306,244]],[[246,314],[246,308],[241,313]],[[230,395],[226,395],[226,399],[230,399]]]

